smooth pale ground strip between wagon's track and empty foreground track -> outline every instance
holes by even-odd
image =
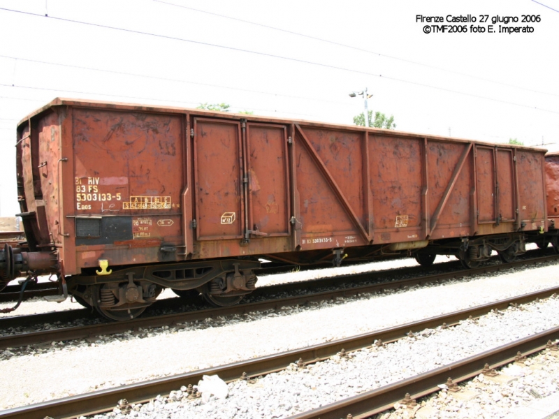
[[[2,354],[0,361],[3,373],[11,377],[10,382],[0,383],[1,406],[20,406],[180,374],[436,316],[557,286],[556,269],[557,264],[549,263],[389,295],[340,299],[316,307],[147,331],[144,337],[129,335],[55,344],[27,355],[8,351],[11,353]],[[268,402],[279,403],[282,396],[273,399]]]

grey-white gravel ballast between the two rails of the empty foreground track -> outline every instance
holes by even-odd
[[[491,313],[474,321],[463,321],[453,328],[424,330],[416,337],[406,337],[384,347],[372,346],[346,356],[336,355],[324,362],[318,362],[305,368],[290,365],[277,374],[269,374],[254,383],[235,381],[228,385],[226,398],[210,397],[204,403],[202,399],[188,399],[182,391],[171,393],[170,397],[159,397],[143,406],[135,406],[129,414],[124,415],[117,409],[109,415],[96,418],[283,418],[296,413],[316,409],[340,399],[351,397],[360,392],[373,390],[410,376],[415,376],[431,369],[456,362],[463,358],[487,351],[552,328],[555,324],[554,314],[559,309],[559,298],[553,297],[545,302],[525,304],[523,309],[508,309],[502,313]],[[533,361],[527,362],[533,365]],[[548,366],[550,365],[551,366]],[[557,372],[559,360],[546,362],[542,369],[547,373]],[[517,367],[518,369],[518,367]],[[516,375],[525,374],[513,367],[505,369]],[[533,375],[533,374],[532,374]],[[537,375],[537,374],[536,374]],[[541,374],[540,374],[541,375]],[[530,376],[528,385],[510,385],[506,396],[495,390],[489,391],[485,399],[487,409],[477,413],[492,413],[499,417],[505,406],[516,407],[536,397],[545,397],[559,390],[557,376],[551,379],[537,380]],[[536,379],[535,379],[536,378]],[[479,376],[475,385],[491,383],[484,376]],[[443,384],[443,383],[442,383]],[[488,386],[488,385],[484,385]],[[472,385],[470,385],[472,388]],[[480,392],[481,394],[481,392]],[[445,399],[440,395],[439,399]],[[507,398],[509,403],[501,399]],[[432,402],[430,405],[439,411],[452,412],[458,404]],[[491,406],[491,409],[489,409]],[[403,412],[402,412],[403,413]],[[482,418],[472,409],[463,409],[460,415],[444,415],[446,418]],[[402,414],[403,416],[403,414]],[[384,418],[402,417],[398,414],[386,415]]]

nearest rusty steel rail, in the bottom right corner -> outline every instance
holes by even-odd
[[[289,419],[339,419],[346,418],[349,414],[354,419],[368,418],[390,409],[393,404],[402,400],[405,393],[409,393],[413,399],[429,395],[440,390],[438,385],[444,384],[449,376],[454,383],[465,381],[480,374],[485,364],[491,368],[502,367],[514,362],[518,352],[531,355],[542,351],[546,348],[547,341],[558,336],[559,326],[397,383],[290,416]]]

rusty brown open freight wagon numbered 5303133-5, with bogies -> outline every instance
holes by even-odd
[[[472,266],[546,230],[542,149],[183,108],[57,98],[20,122],[17,186],[6,279],[58,273],[115,319],[165,287],[235,304],[259,258]]]

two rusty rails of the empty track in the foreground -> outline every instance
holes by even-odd
[[[270,374],[286,368],[293,362],[298,365],[308,365],[321,360],[326,360],[341,351],[354,351],[366,348],[379,341],[389,343],[402,337],[415,334],[425,329],[437,328],[441,325],[451,326],[467,318],[478,318],[490,311],[499,311],[516,304],[525,304],[539,299],[550,297],[559,293],[559,287],[549,288],[544,291],[529,293],[517,297],[508,298],[491,304],[483,304],[478,307],[464,309],[428,318],[422,321],[407,323],[393,328],[386,328],[377,332],[370,332],[355,337],[348,337],[325,344],[301,348],[298,350],[278,353],[252,360],[235,362],[233,364],[213,367],[166,378],[158,378],[143,383],[124,385],[119,388],[101,390],[75,397],[53,400],[31,406],[24,406],[0,412],[0,419],[20,419],[30,417],[71,418],[80,415],[94,414],[101,411],[111,410],[119,399],[127,399],[130,403],[145,402],[157,395],[168,394],[182,385],[196,384],[203,375],[217,374],[225,381],[234,381],[245,375],[245,378]],[[329,406],[323,406],[315,411],[302,413],[295,418],[345,418],[350,413],[355,417],[366,417],[368,415],[386,410],[389,406],[402,399],[408,392],[412,397],[421,397],[439,390],[438,384],[444,383],[448,376],[455,382],[470,378],[479,374],[481,367],[488,363],[491,367],[498,367],[514,360],[514,356],[521,352],[523,355],[535,353],[545,348],[551,339],[559,337],[559,327],[546,332],[521,339],[513,344],[507,344],[492,351],[475,355],[460,362],[437,368],[407,380],[386,385],[383,388],[364,392],[361,395],[337,402]]]

